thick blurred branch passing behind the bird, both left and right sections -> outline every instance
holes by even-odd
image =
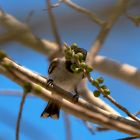
[[[14,38],[17,42],[24,44],[25,47],[29,47],[33,50],[39,51],[40,53],[45,54],[48,57],[54,55],[58,51],[58,46],[56,43],[36,38],[27,26],[17,21],[13,16],[10,16],[8,14],[5,14],[4,16],[0,12],[0,24],[3,25],[6,29],[10,30],[10,33],[8,32],[5,37],[3,37],[3,40],[4,38],[6,38],[6,36],[7,38],[13,38],[13,32],[11,31],[13,28],[15,30],[25,30],[25,32],[22,32],[22,35],[18,32],[17,36],[19,36],[19,38]],[[26,32],[25,27],[27,28],[28,32]],[[131,85],[140,88],[140,71],[135,67],[132,67],[128,64],[120,64],[115,60],[108,59],[103,56],[96,56],[94,63],[92,63],[92,66],[97,71],[121,79]]]

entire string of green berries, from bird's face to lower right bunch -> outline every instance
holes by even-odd
[[[102,77],[99,77],[95,80],[90,77],[90,72],[92,72],[93,69],[85,63],[84,56],[81,52],[75,53],[77,48],[78,45],[74,43],[71,46],[67,46],[65,50],[66,60],[73,62],[71,65],[71,70],[74,73],[83,72],[87,76],[91,84],[97,88],[97,90],[93,92],[95,97],[99,97],[101,93],[104,95],[104,97],[109,95],[110,90],[106,85],[103,84],[104,79]]]

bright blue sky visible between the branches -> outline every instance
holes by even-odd
[[[109,0],[104,0],[104,2],[108,1]],[[97,4],[100,5],[100,2],[98,2]],[[83,2],[81,5],[86,6],[86,3]],[[11,2],[9,2],[8,0],[0,0],[0,6],[4,9],[5,12],[14,15],[17,19],[21,21],[26,18],[26,16],[31,10],[35,11],[31,23],[35,21],[36,17],[38,16],[45,16],[47,20],[47,15],[45,15],[46,13],[42,11],[42,9],[45,8],[44,0],[40,0],[36,3],[33,0],[13,0]],[[56,11],[59,10],[60,9],[56,9]],[[61,10],[57,13],[59,17],[61,17],[61,12],[63,11],[66,11],[68,14],[77,14],[73,10],[67,9],[64,5],[62,6]],[[77,16],[79,15],[81,16],[81,14],[77,14]],[[92,42],[95,40],[99,28],[94,24],[92,25],[89,19],[85,19],[87,20],[85,22],[87,22],[88,24],[90,23],[90,26],[76,26],[74,28],[70,25],[70,27],[65,25],[66,27],[63,28],[61,27],[60,19],[58,19],[58,25],[63,41],[67,43],[76,42],[80,47],[86,48],[88,50]],[[114,26],[100,54],[109,58],[116,59],[121,63],[128,63],[136,66],[137,68],[140,68],[140,28],[136,28],[131,22],[123,22],[124,19],[125,18],[121,18],[121,20],[119,20]],[[120,28],[118,28],[118,26],[120,26]],[[53,39],[51,35],[51,30],[49,29],[49,25],[46,25],[46,28],[46,32],[34,32],[40,37]],[[24,48],[24,46],[18,43],[9,43],[7,45],[2,45],[1,49],[5,50],[12,59],[20,63],[21,65],[33,71],[41,73],[42,75],[47,75],[48,62],[45,56],[33,50]],[[140,109],[139,89],[128,85],[122,81],[116,80],[112,77],[108,77],[102,73],[93,72],[93,75],[95,77],[103,76],[106,85],[108,85],[111,90],[111,96],[113,96],[113,98],[115,98],[120,104],[127,107],[131,112],[134,113]],[[22,88],[20,88],[17,84],[13,83],[2,75],[0,75],[0,81],[0,90],[19,90],[22,92]],[[88,86],[89,88],[91,88],[90,84]],[[19,110],[20,100],[20,97],[0,96],[0,140],[15,139],[16,119]],[[103,100],[109,103],[106,99]],[[109,104],[114,107],[111,103]],[[27,98],[22,117],[20,140],[65,139],[65,126],[62,115],[63,112],[61,112],[61,117],[58,121],[54,121],[52,119],[41,119],[40,113],[42,112],[45,105],[46,103],[41,99],[32,97]],[[117,111],[119,110],[117,109]],[[121,111],[119,112],[122,115],[126,116]],[[103,138],[114,140],[127,136],[126,134],[115,131],[100,133],[97,132],[92,135],[85,128],[82,121],[78,118],[70,115],[70,122],[72,127],[73,140],[100,140]],[[94,126],[95,124],[93,124],[93,127]]]

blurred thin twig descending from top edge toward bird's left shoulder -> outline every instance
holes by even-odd
[[[52,32],[55,37],[55,41],[58,44],[59,49],[61,51],[62,50],[62,41],[61,41],[60,35],[58,33],[56,20],[55,20],[54,14],[52,12],[50,0],[46,0],[46,4],[47,4],[48,14],[49,14],[49,18],[50,18],[51,27],[52,27]]]

